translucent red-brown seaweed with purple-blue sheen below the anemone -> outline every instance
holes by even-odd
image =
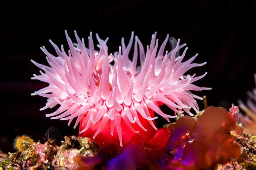
[[[112,157],[107,157],[108,149],[104,148],[101,156],[97,156],[97,163],[104,170],[213,169],[218,163],[225,164],[230,158],[240,156],[240,147],[230,134],[233,130],[242,132],[230,112],[209,107],[197,120],[184,116],[168,128],[159,129],[149,142],[142,135],[132,136]],[[113,144],[107,147],[113,148]],[[83,166],[89,162],[89,167],[96,165],[94,159],[80,160]]]

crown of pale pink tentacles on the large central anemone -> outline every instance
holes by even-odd
[[[91,126],[97,127],[93,138],[95,138],[110,123],[110,134],[113,135],[116,128],[120,146],[122,146],[123,126],[127,125],[132,133],[139,133],[134,130],[132,124],[137,124],[142,130],[147,131],[143,126],[144,120],[157,130],[154,124],[154,117],[149,109],[155,111],[167,121],[168,118],[176,117],[177,113],[183,115],[187,112],[193,114],[189,109],[196,112],[199,107],[195,98],[202,100],[190,90],[206,90],[211,88],[198,87],[192,83],[203,78],[194,75],[185,75],[192,67],[202,66],[204,63],[192,63],[197,54],[187,61],[183,61],[188,48],[181,56],[178,51],[185,46],[180,45],[180,39],[176,47],[169,53],[165,51],[166,39],[158,50],[156,33],[152,35],[150,46],[146,48],[146,54],[139,38],[135,36],[134,53],[132,61],[128,55],[133,43],[133,32],[131,39],[126,46],[122,39],[122,48],[112,55],[108,53],[106,40],[97,36],[99,51],[94,49],[92,33],[89,36],[89,49],[86,48],[84,39],[80,40],[75,32],[78,44],[75,47],[65,31],[69,49],[65,53],[63,45],[61,49],[51,40],[50,43],[56,50],[57,57],[50,54],[43,46],[41,50],[47,55],[46,59],[50,66],[41,65],[31,60],[36,66],[44,70],[41,75],[35,75],[31,79],[48,82],[45,87],[31,95],[39,95],[48,98],[46,108],[59,108],[47,114],[51,119],[69,120],[77,117],[74,128],[82,120],[80,133],[87,131]],[[138,49],[139,46],[139,49]],[[158,52],[158,53],[157,53]],[[137,67],[138,53],[141,66]],[[114,61],[114,65],[112,65]],[[159,108],[159,104],[165,104],[174,111],[174,115],[165,114]],[[140,119],[139,119],[140,118]],[[143,119],[143,121],[141,121]]]

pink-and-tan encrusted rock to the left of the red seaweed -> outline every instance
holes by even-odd
[[[98,145],[90,138],[65,136],[61,146],[45,142],[30,143],[26,149],[4,154],[0,151],[0,170],[74,170],[75,156],[93,156]]]

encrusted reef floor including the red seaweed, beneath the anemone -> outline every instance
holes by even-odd
[[[0,152],[0,170],[256,169],[256,136],[243,131],[236,117],[235,107],[209,107],[196,118],[180,117],[149,141],[133,135],[119,149],[78,136],[65,136],[60,146],[19,136],[15,153]]]

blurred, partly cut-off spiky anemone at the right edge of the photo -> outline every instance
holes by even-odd
[[[256,74],[254,74],[254,80],[256,85]],[[240,121],[244,125],[246,132],[256,135],[256,89],[253,89],[252,92],[247,92],[247,94],[249,96],[246,101],[247,106],[241,100],[238,100],[239,107],[245,112],[245,115],[239,114]]]

